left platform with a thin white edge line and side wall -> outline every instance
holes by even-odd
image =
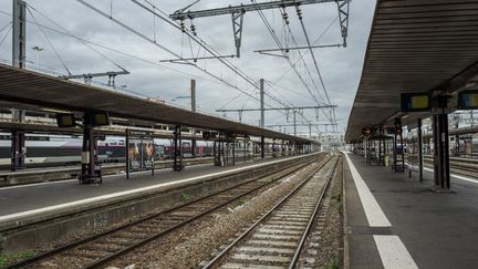
[[[236,166],[195,165],[183,172],[160,169],[155,170],[154,176],[150,172],[135,173],[131,174],[129,179],[125,175],[112,175],[105,176],[101,185],[79,185],[77,180],[62,180],[3,187],[0,188],[0,230],[25,223],[25,219],[39,220],[49,214],[64,213],[72,208],[76,210],[101,203],[165,192],[263,167],[273,169],[272,165],[298,162],[304,156],[313,155],[266,158]]]

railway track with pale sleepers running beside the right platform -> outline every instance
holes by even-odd
[[[325,192],[340,157],[331,157],[314,169],[202,268],[294,268],[303,256],[302,247],[310,241],[321,206],[328,206]]]

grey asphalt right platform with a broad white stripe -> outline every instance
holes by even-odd
[[[475,268],[478,179],[451,175],[451,192],[433,190],[433,172],[394,174],[346,154],[346,268]]]

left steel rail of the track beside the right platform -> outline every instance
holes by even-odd
[[[253,223],[247,230],[245,230],[239,237],[237,237],[231,244],[229,244],[222,251],[216,255],[202,269],[212,268],[218,261],[220,261],[226,254],[228,254],[233,247],[236,247],[245,237],[249,235],[253,229],[256,229],[260,224],[262,224],[272,213],[274,213],[279,207],[281,207],[287,200],[289,200],[299,189],[301,189],[305,183],[308,183],[319,170],[325,167],[332,161],[330,157],[326,162],[314,169],[309,176],[305,177],[295,188],[293,188],[288,195],[285,195],[280,201],[278,201],[271,209],[269,209],[260,219]]]

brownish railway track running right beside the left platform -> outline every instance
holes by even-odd
[[[250,179],[172,209],[64,245],[8,268],[100,268],[240,198],[278,184],[280,179],[300,173],[304,167],[306,169],[310,163]],[[269,179],[264,180],[264,178]]]

